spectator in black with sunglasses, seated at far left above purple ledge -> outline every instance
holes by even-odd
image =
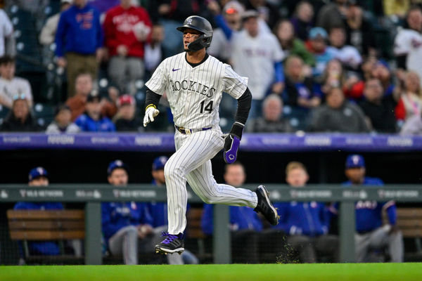
[[[13,96],[12,110],[9,112],[0,131],[41,131],[30,112],[27,96],[23,93]]]

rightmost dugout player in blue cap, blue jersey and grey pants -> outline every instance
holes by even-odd
[[[365,176],[366,166],[362,155],[349,155],[346,159],[345,174],[348,181],[345,187],[356,185],[384,185],[381,178]],[[354,249],[358,263],[384,261],[380,255],[387,249],[390,261],[403,261],[403,236],[397,228],[397,209],[395,202],[358,201],[354,205],[356,216],[356,233],[354,234]],[[338,214],[338,203],[330,207],[332,214]],[[388,217],[388,223],[383,223],[383,213]],[[378,253],[377,253],[378,252]]]

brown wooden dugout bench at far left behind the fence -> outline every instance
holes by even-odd
[[[84,240],[84,210],[13,210],[7,211],[8,228],[11,240],[20,242],[22,263],[26,264],[84,264],[84,256],[66,251],[67,240]],[[55,241],[59,255],[30,254],[28,242]],[[104,264],[122,264],[122,256],[103,256]],[[140,253],[139,261],[148,264],[165,263],[164,256]]]

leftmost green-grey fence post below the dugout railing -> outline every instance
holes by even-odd
[[[101,203],[85,205],[85,264],[103,263],[101,253]]]

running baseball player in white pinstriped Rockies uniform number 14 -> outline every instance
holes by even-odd
[[[146,83],[143,119],[143,126],[154,121],[159,114],[158,102],[167,93],[176,128],[176,152],[164,168],[169,225],[168,233],[163,233],[165,239],[155,246],[161,254],[184,251],[186,181],[205,203],[252,207],[272,225],[278,223],[277,211],[263,185],[252,192],[218,184],[212,176],[210,159],[223,147],[224,161],[231,164],[236,160],[252,100],[247,81],[206,53],[212,27],[205,18],[192,15],[177,30],[183,32],[185,52],[163,60]],[[236,122],[227,135],[219,127],[218,107],[223,91],[238,100]]]

